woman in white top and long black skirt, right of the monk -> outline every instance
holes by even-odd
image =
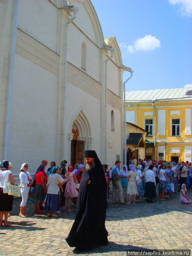
[[[150,165],[145,173],[145,193],[144,197],[147,198],[147,203],[154,203],[156,197],[155,191],[155,173],[153,171],[154,166]]]

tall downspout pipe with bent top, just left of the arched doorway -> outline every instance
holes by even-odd
[[[70,9],[71,7],[71,9]],[[64,157],[64,148],[65,148],[65,116],[66,116],[66,90],[67,90],[67,41],[68,41],[68,25],[70,22],[72,22],[76,18],[76,14],[78,13],[79,9],[74,6],[64,6],[65,10],[68,12],[73,12],[74,16],[72,16],[71,19],[67,20],[66,25],[65,25],[65,50],[64,50],[64,84],[63,84],[63,125],[62,125],[62,150],[61,150],[61,157]],[[69,157],[69,156],[68,156]]]

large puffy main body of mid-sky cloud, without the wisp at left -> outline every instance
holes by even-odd
[[[146,35],[143,38],[138,38],[135,41],[134,48],[135,50],[151,51],[160,47],[160,40],[152,35]]]

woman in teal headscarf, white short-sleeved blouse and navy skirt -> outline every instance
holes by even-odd
[[[56,212],[59,211],[59,187],[64,184],[64,179],[60,175],[59,166],[53,166],[50,169],[50,175],[47,181],[47,195],[45,201],[45,210],[48,211],[47,217],[56,218]],[[62,188],[62,187],[61,187]]]

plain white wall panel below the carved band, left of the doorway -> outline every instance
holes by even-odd
[[[57,154],[57,77],[18,54],[14,74],[9,161],[13,174],[25,162],[34,173],[42,159],[54,161]]]

